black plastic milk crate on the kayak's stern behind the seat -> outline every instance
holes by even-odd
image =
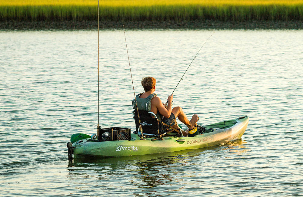
[[[131,129],[121,127],[102,128],[98,132],[99,141],[131,140]]]

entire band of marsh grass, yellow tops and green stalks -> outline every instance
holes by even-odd
[[[303,0],[100,0],[100,20],[296,20]],[[97,0],[6,0],[0,21],[96,20]]]

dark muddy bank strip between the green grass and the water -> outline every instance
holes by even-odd
[[[100,21],[100,30],[122,29],[303,29],[303,21]],[[5,30],[94,30],[97,21],[0,21]]]

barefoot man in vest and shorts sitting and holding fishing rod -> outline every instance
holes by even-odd
[[[196,123],[198,121],[198,115],[194,114],[191,120],[188,120],[185,113],[181,107],[171,108],[171,102],[173,96],[168,96],[168,105],[161,102],[161,99],[155,94],[156,89],[156,79],[154,77],[144,77],[141,81],[144,88],[144,93],[140,93],[136,96],[137,106],[139,110],[151,111],[156,114],[158,120],[162,120],[163,123],[168,126],[174,126],[177,124],[176,117],[188,126],[189,130],[196,128]],[[135,99],[132,102],[133,108],[137,109]],[[162,118],[163,116],[163,118]],[[195,128],[194,128],[195,127]],[[188,132],[183,133],[183,135],[188,135]]]

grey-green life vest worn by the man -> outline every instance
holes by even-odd
[[[157,96],[157,94],[154,93],[154,94],[149,95],[146,98],[140,98],[139,96],[141,94],[143,94],[143,93],[140,93],[136,96],[137,105],[136,105],[135,99],[132,101],[133,108],[136,110],[137,109],[136,106],[138,106],[138,110],[151,111],[151,99],[154,98],[155,96]],[[162,120],[162,115],[159,113],[159,111],[157,112],[156,116],[159,121]]]

